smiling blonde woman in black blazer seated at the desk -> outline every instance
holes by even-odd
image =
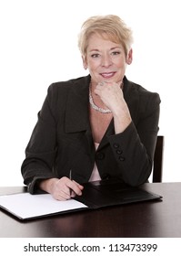
[[[117,177],[139,186],[151,174],[158,132],[157,93],[126,79],[132,33],[118,16],[93,16],[79,35],[89,75],[52,84],[22,175],[30,193],[82,195],[88,181]]]

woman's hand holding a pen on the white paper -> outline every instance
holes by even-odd
[[[64,176],[60,179],[50,178],[40,182],[39,187],[51,194],[56,200],[64,201],[71,197],[81,196],[83,186]]]

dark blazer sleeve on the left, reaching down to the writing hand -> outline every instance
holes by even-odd
[[[25,160],[21,166],[21,172],[30,193],[34,193],[37,189],[38,180],[55,177],[52,166],[56,155],[54,111],[56,95],[56,90],[53,90],[51,85],[43,107],[38,112],[37,123],[25,149]]]

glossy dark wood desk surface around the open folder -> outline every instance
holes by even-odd
[[[181,238],[181,182],[150,183],[143,187],[163,196],[163,200],[85,210],[25,222],[0,210],[0,237]],[[0,194],[22,189],[0,187]]]

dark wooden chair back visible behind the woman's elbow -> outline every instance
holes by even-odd
[[[153,182],[162,182],[162,168],[164,156],[164,136],[158,135],[153,165]]]

